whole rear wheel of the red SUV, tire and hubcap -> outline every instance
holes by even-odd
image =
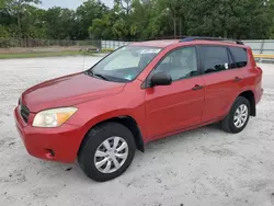
[[[238,96],[229,114],[221,121],[221,128],[228,133],[240,133],[247,126],[250,117],[250,102]]]

